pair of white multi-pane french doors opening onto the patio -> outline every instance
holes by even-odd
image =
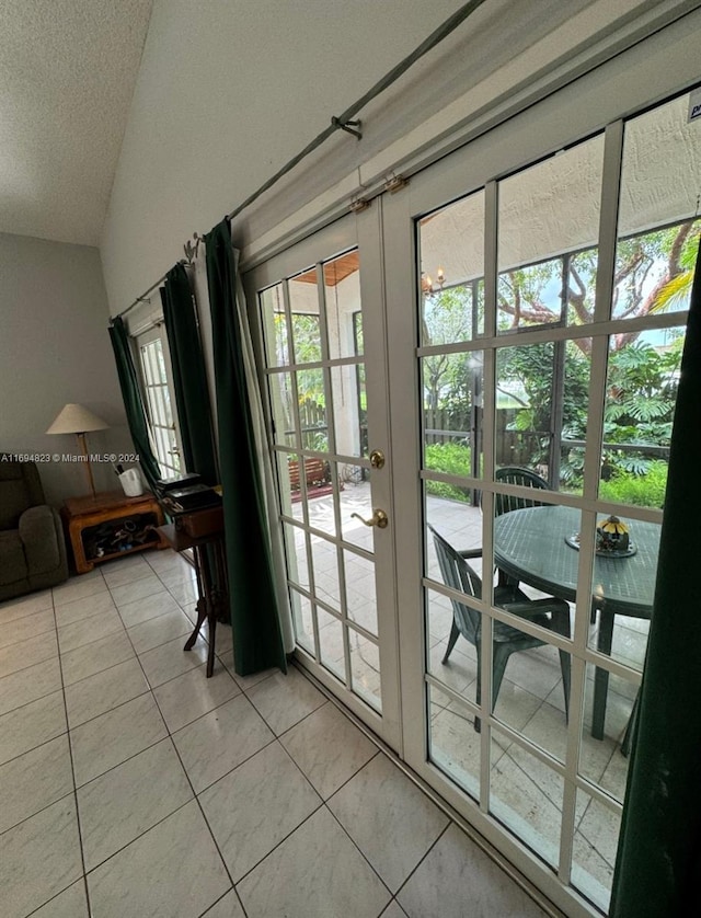
[[[652,605],[627,601],[624,556],[605,593],[597,529],[617,516],[634,550],[662,521],[701,232],[679,42],[642,43],[246,275],[299,658],[576,916],[609,905]],[[572,583],[554,554],[531,583],[498,571],[495,520],[532,501],[509,466],[570,520],[550,535]],[[434,532],[480,555],[478,586],[445,577]],[[544,583],[568,628],[503,599]],[[478,636],[453,645],[460,609]],[[532,640],[497,684],[504,635]]]

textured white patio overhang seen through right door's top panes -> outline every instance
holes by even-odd
[[[627,123],[620,237],[699,214],[701,125],[688,122],[688,106],[682,94]],[[499,271],[596,244],[602,170],[599,134],[502,181]],[[449,285],[481,277],[483,222],[482,192],[430,215],[421,231],[422,268],[435,278],[443,266]]]

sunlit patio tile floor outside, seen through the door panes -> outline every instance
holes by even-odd
[[[352,513],[369,517],[372,502],[367,483],[346,483],[341,492],[341,523],[346,541],[372,549],[372,531],[350,517]],[[300,504],[292,507],[297,519],[302,520]],[[456,501],[429,496],[426,504],[428,521],[459,549],[478,548],[482,544],[482,516],[479,508]],[[332,497],[319,497],[309,505],[309,520],[322,532],[335,531],[335,515]],[[302,530],[298,551],[304,556]],[[333,544],[312,533],[314,571],[337,569]],[[428,575],[443,583],[435,555],[433,540],[428,539]],[[325,555],[324,555],[325,552]],[[327,565],[324,565],[324,558]],[[481,561],[472,561],[481,573]],[[347,560],[346,560],[347,564]],[[521,585],[536,598],[537,590]],[[337,575],[331,582],[317,577],[317,594],[332,606],[338,592]],[[356,608],[363,600],[370,604],[375,585],[371,577],[354,572],[352,577],[353,598]],[[324,590],[327,595],[324,595]],[[427,644],[429,651],[428,672],[435,680],[430,689],[430,755],[446,774],[479,797],[481,776],[481,749],[479,735],[474,733],[469,710],[456,702],[450,695],[440,691],[444,686],[461,698],[472,702],[476,688],[476,655],[474,647],[459,639],[450,659],[443,663],[447,640],[452,623],[452,608],[449,599],[438,590],[428,590]],[[367,606],[366,606],[367,608]],[[302,610],[302,620],[312,642],[310,609]],[[376,619],[367,615],[361,622],[370,631],[376,630]],[[574,610],[573,610],[574,622]],[[613,630],[612,656],[639,672],[642,670],[650,622],[641,619],[617,617]],[[589,645],[596,646],[598,623],[589,627]],[[330,616],[321,617],[319,634],[322,659],[332,672],[343,673],[344,644],[338,623]],[[379,692],[378,665],[372,665],[368,655],[371,650],[357,632],[348,635],[355,654],[354,676],[359,687],[365,687],[372,703],[372,695]],[[587,666],[585,687],[581,773],[600,787],[619,805],[622,805],[628,776],[628,759],[621,754],[621,738],[625,731],[636,687],[632,681],[611,677],[607,705],[606,728],[602,739],[590,735],[594,700],[595,667]],[[437,685],[436,685],[437,684]],[[359,691],[359,689],[358,689]],[[561,667],[554,647],[537,647],[515,654],[506,670],[496,715],[513,730],[522,733],[558,760],[564,761],[567,730],[564,716],[564,692]],[[540,760],[525,753],[517,744],[508,742],[505,734],[493,734],[491,751],[492,802],[501,807],[499,816],[521,839],[538,851],[553,867],[558,864],[560,830],[562,826],[562,782]],[[616,806],[616,804],[613,804]],[[579,792],[576,801],[576,822],[573,853],[573,877],[577,888],[585,893],[601,910],[608,908],[613,867],[616,862],[620,816],[611,808]]]

